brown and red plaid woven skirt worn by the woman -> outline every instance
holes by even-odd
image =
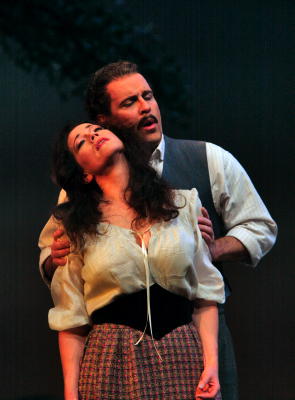
[[[195,400],[203,370],[193,323],[156,340],[125,325],[94,325],[85,345],[79,378],[82,400]],[[218,395],[216,400],[221,399]]]

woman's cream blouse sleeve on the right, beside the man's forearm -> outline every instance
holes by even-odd
[[[224,303],[225,293],[222,275],[212,264],[210,251],[198,226],[197,218],[201,215],[202,204],[196,189],[190,191],[188,202],[190,222],[196,241],[195,268],[198,281],[196,297]]]

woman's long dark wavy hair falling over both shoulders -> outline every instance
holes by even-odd
[[[68,149],[68,135],[77,124],[67,125],[58,135],[53,151],[53,181],[67,192],[67,201],[58,204],[54,217],[62,222],[72,243],[83,248],[86,235],[99,234],[98,224],[102,220],[99,204],[103,192],[95,180],[85,184],[82,168]],[[141,220],[169,221],[178,216],[174,204],[173,191],[149,166],[150,154],[145,143],[126,130],[114,132],[124,143],[124,154],[129,164],[128,191],[126,201],[137,217],[133,224]]]

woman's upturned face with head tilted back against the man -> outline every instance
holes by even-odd
[[[68,148],[85,173],[99,175],[110,157],[122,152],[124,145],[113,132],[84,123],[69,133]]]

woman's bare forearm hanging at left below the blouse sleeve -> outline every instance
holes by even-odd
[[[58,334],[65,400],[78,400],[80,361],[88,332],[89,326],[85,325]]]

